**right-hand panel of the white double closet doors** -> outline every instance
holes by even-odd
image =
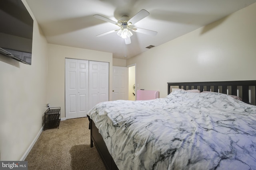
[[[89,61],[89,109],[106,102],[109,92],[109,63]]]

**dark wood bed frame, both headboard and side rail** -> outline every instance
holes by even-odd
[[[239,97],[242,101],[248,104],[256,105],[256,80],[246,80],[246,81],[219,81],[219,82],[180,82],[180,83],[167,83],[168,84],[168,94],[170,94],[173,86],[178,86],[184,90],[198,89],[203,91],[220,92],[223,94],[237,96],[237,91],[239,90]],[[249,94],[249,90],[251,94]],[[249,103],[250,99],[253,103]],[[102,161],[107,170],[118,170],[112,156],[108,152],[106,144],[99,133],[98,128],[95,126],[94,122],[88,116],[90,121],[90,147],[93,147],[93,143],[102,158]]]

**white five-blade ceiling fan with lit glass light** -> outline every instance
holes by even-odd
[[[96,37],[101,37],[103,35],[106,35],[106,34],[109,34],[109,33],[117,31],[117,35],[122,37],[125,40],[126,44],[130,44],[131,43],[130,37],[132,36],[132,31],[139,32],[139,33],[144,33],[144,34],[148,34],[148,35],[156,35],[157,34],[156,31],[152,31],[152,30],[144,29],[144,28],[134,27],[135,23],[137,23],[138,21],[142,20],[146,16],[149,16],[149,12],[146,11],[146,10],[140,10],[140,12],[138,12],[132,18],[129,18],[128,16],[124,15],[118,21],[110,20],[110,19],[108,19],[108,18],[106,18],[104,16],[94,15],[95,18],[98,18],[100,20],[113,23],[113,24],[118,25],[120,27],[119,29],[114,29],[114,30],[111,30],[111,31],[108,31],[108,32],[105,32],[105,33],[102,33],[102,34],[99,34],[99,35],[96,35]]]

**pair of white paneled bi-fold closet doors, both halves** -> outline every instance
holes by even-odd
[[[108,101],[109,64],[65,60],[66,119],[86,117],[93,106]]]

